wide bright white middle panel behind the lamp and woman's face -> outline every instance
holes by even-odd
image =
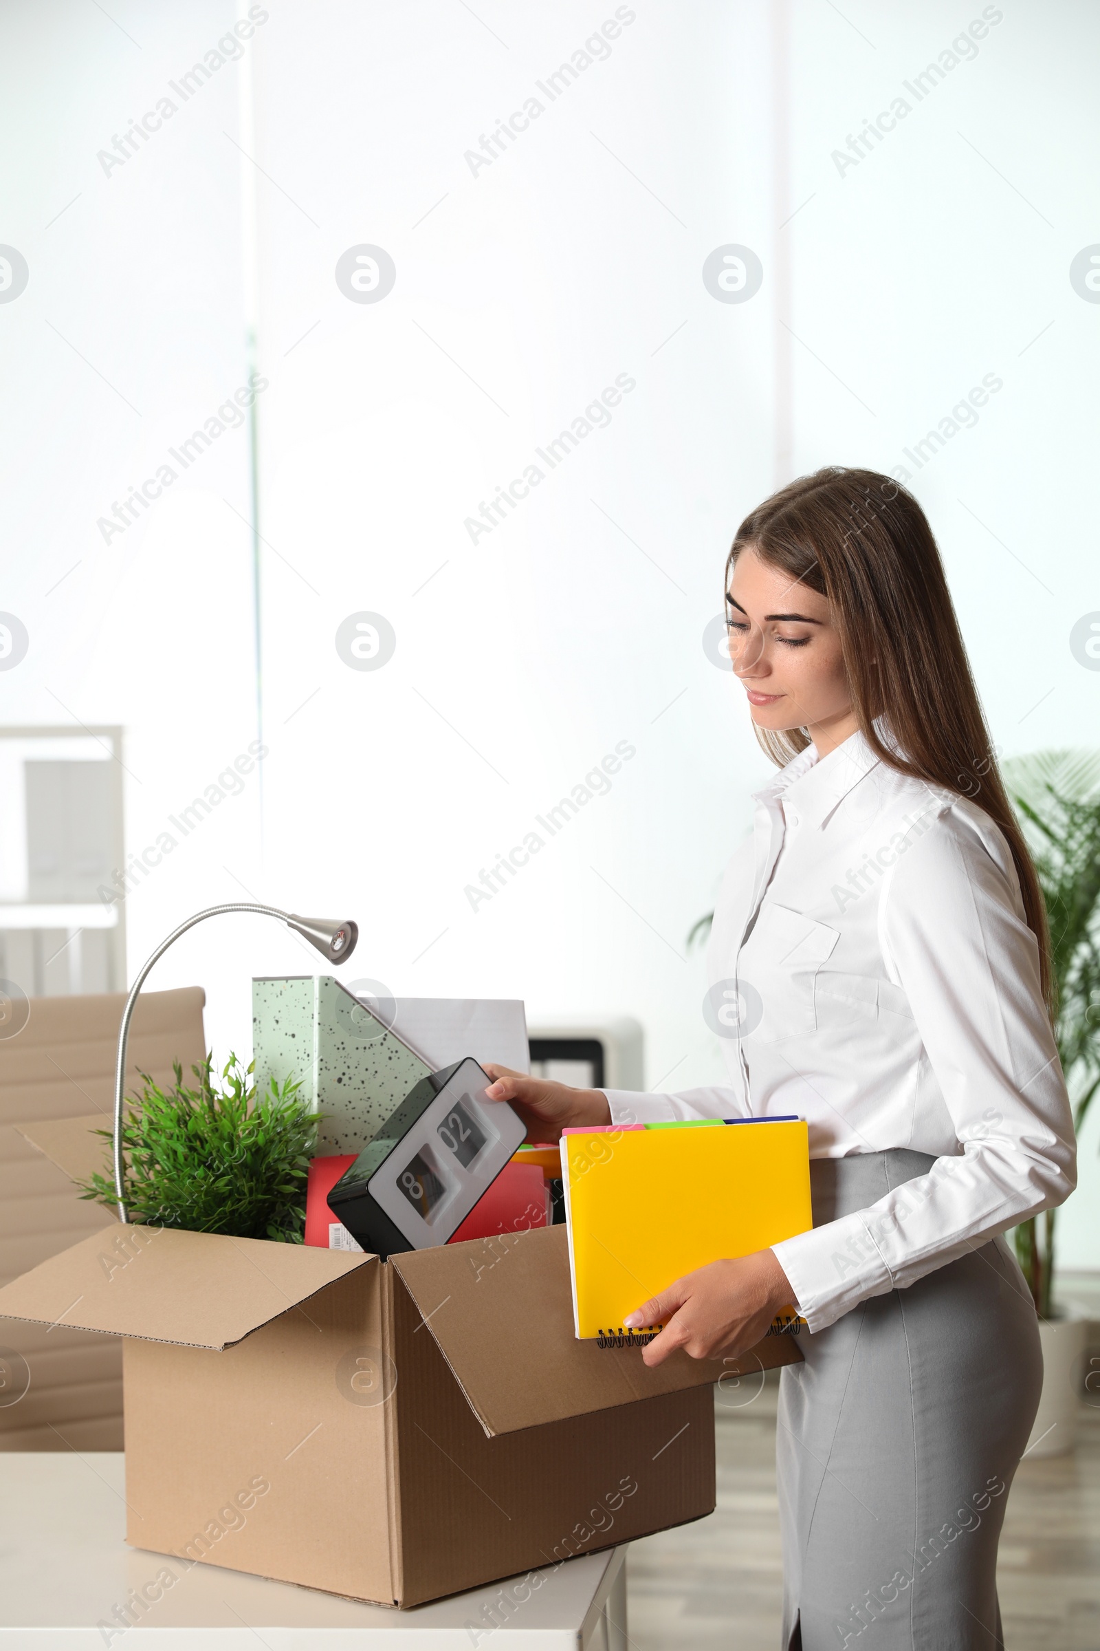
[[[538,81],[613,7],[503,7],[500,40],[444,3],[336,5],[323,38],[290,7],[257,41],[279,185],[259,185],[261,485],[290,563],[266,558],[267,865],[351,905],[350,969],[518,994],[533,1020],[633,1012],[651,1076],[689,1081],[712,1052],[684,936],[765,771],[701,634],[770,475],[767,304],[716,304],[699,269],[734,231],[767,246],[769,109],[737,36],[767,40],[744,8],[620,12],[552,102]],[[533,92],[544,112],[472,172]],[[333,274],[363,243],[397,269],[378,304]],[[610,423],[539,461],[617,378]],[[529,497],[470,535],[533,461]],[[336,654],[356,611],[394,627],[381,670]],[[637,755],[551,837],[536,816],[620,743]],[[531,830],[544,847],[472,901]]]

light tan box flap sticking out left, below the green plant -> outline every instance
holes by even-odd
[[[104,1227],[5,1284],[0,1317],[221,1351],[364,1265],[378,1258],[173,1227]]]

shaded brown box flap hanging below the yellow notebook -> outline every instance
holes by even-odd
[[[770,1336],[736,1360],[678,1351],[650,1370],[637,1347],[577,1341],[564,1227],[411,1250],[391,1265],[490,1436],[801,1357],[788,1336]]]

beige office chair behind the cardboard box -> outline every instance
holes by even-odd
[[[198,986],[139,997],[129,1048],[132,1088],[139,1068],[165,1083],[173,1057],[185,1071],[203,1058],[203,1002]],[[109,1210],[78,1197],[64,1171],[102,1164],[106,1142],[87,1131],[110,1119],[124,1004],[124,992],[33,999],[23,1032],[0,1040],[0,1284],[114,1225]],[[53,1131],[58,1157],[43,1157],[18,1124],[43,1138]],[[15,1354],[10,1375],[18,1380],[25,1369],[18,1360],[25,1360],[31,1377],[25,1398],[0,1405],[0,1451],[122,1450],[117,1339],[7,1322],[0,1344]]]

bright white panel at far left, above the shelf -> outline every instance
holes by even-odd
[[[134,971],[167,926],[224,895],[219,867],[252,859],[259,816],[252,786],[193,839],[168,824],[256,738],[251,535],[234,513],[249,512],[247,426],[226,428],[186,469],[170,456],[247,371],[239,154],[223,135],[237,134],[239,68],[186,101],[170,89],[234,13],[110,12],[117,21],[76,3],[3,15],[0,239],[30,279],[0,304],[2,439],[15,461],[0,606],[21,617],[30,649],[0,690],[8,723],[125,726],[127,845],[163,855],[127,901]],[[175,112],[158,116],[165,97]],[[115,163],[115,135],[150,111],[148,139]],[[234,424],[233,406],[218,423]],[[157,482],[162,466],[175,480]],[[110,525],[114,504],[150,479],[162,495]],[[167,854],[155,847],[165,832],[176,840]],[[213,991],[209,956],[195,946],[173,959],[165,984],[175,972]]]

